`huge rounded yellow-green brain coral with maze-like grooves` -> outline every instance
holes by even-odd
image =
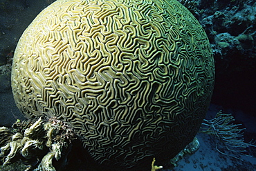
[[[176,0],[55,1],[22,34],[12,65],[28,119],[66,121],[92,159],[119,169],[150,169],[190,143],[213,83],[205,32]]]

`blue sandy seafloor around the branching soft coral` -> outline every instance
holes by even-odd
[[[219,105],[210,105],[206,119],[212,119],[219,110],[222,110]],[[242,123],[246,128],[245,139],[248,142],[248,134],[256,134],[256,119],[253,117],[246,117],[241,111],[228,110],[230,113],[236,115],[235,119]],[[246,137],[248,135],[248,137]],[[199,133],[196,135],[199,139],[200,148],[192,155],[185,156],[178,165],[173,169],[175,171],[254,171],[256,170],[256,149],[250,148],[254,157],[247,157],[236,154],[234,157],[220,154],[215,148],[215,139],[208,134]]]

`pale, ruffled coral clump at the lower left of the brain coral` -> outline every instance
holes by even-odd
[[[62,152],[68,154],[75,134],[69,126],[55,118],[35,123],[17,121],[12,128],[0,128],[0,158],[3,165],[23,161],[26,170],[55,170]]]

